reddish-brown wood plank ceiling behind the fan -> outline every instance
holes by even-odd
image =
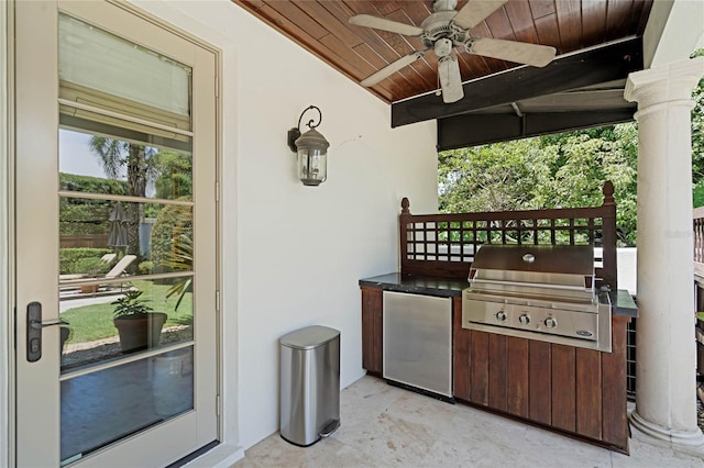
[[[418,26],[432,12],[432,0],[232,1],[356,82],[425,47],[417,37],[351,25],[351,16],[366,13]],[[457,9],[465,3],[466,0],[459,0]],[[652,0],[509,0],[470,34],[549,45],[558,49],[559,56],[642,35],[651,7]],[[437,65],[435,54],[426,54],[370,91],[388,103],[435,91],[439,88]],[[466,52],[460,54],[463,81],[518,66]]]

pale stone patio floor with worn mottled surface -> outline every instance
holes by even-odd
[[[463,404],[363,377],[341,392],[342,425],[301,448],[271,435],[233,468],[252,467],[704,467],[634,431],[630,456]]]

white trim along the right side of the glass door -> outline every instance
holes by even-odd
[[[189,11],[196,2],[172,2],[164,0],[129,0],[142,9],[142,14],[160,24],[168,24],[184,32],[187,37],[209,44],[218,51],[218,177],[220,180],[219,234],[220,234],[220,390],[221,390],[221,445],[191,461],[189,467],[232,466],[244,457],[240,447],[240,339],[239,339],[239,261],[238,259],[238,158],[224,155],[223,148],[237,148],[239,141],[238,109],[238,44],[218,29],[195,20]],[[224,2],[224,1],[223,1]],[[146,12],[146,13],[145,13]],[[227,79],[227,86],[223,81]],[[227,110],[227,112],[226,112]],[[223,131],[227,129],[227,131]],[[226,157],[227,156],[227,157]],[[227,236],[223,234],[227,233]]]

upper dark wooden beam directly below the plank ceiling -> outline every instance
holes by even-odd
[[[624,79],[641,69],[642,38],[632,37],[560,56],[543,68],[520,67],[465,82],[464,98],[450,104],[435,93],[395,102],[392,127]]]

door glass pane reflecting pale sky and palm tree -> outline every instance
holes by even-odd
[[[67,129],[59,131],[58,141],[61,190],[193,199],[190,138],[187,151]]]

